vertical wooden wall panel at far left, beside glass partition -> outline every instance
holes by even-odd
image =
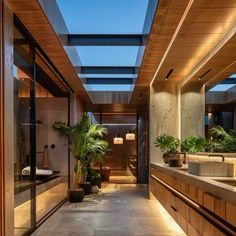
[[[3,132],[4,132],[4,214],[5,235],[14,235],[14,87],[13,87],[13,12],[3,0]]]

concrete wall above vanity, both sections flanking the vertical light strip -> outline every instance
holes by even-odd
[[[168,134],[181,140],[205,136],[205,88],[156,83],[150,87],[149,113],[150,162],[162,163],[162,153],[154,145],[157,136]]]

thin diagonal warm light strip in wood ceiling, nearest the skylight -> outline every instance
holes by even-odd
[[[185,9],[185,11],[184,11],[184,14],[182,15],[182,17],[181,17],[181,19],[180,19],[180,22],[179,22],[179,24],[178,24],[178,26],[177,26],[177,28],[176,28],[176,30],[175,30],[175,32],[174,32],[174,35],[172,36],[172,38],[171,38],[171,40],[170,40],[170,43],[169,43],[169,45],[168,45],[168,47],[167,47],[167,49],[166,49],[166,51],[165,51],[165,53],[164,53],[164,55],[163,55],[163,57],[162,57],[162,59],[161,59],[159,65],[158,65],[158,67],[157,67],[157,70],[156,70],[156,72],[155,72],[153,78],[152,78],[151,85],[153,84],[153,82],[154,82],[154,80],[155,80],[155,78],[156,78],[156,76],[157,76],[157,73],[159,72],[159,70],[160,70],[162,64],[164,63],[164,61],[165,61],[165,59],[166,59],[166,57],[167,57],[167,54],[169,53],[170,48],[172,47],[172,45],[173,45],[173,43],[174,43],[174,41],[175,41],[175,39],[176,39],[176,37],[177,37],[179,31],[180,31],[181,26],[182,26],[183,23],[184,23],[184,20],[185,20],[187,14],[188,14],[188,12],[189,12],[189,10],[190,10],[190,8],[191,8],[193,2],[194,2],[194,0],[190,0],[190,1],[189,1],[188,5],[187,5],[187,7],[186,7],[186,9]]]

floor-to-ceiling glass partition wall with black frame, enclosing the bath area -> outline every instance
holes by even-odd
[[[52,125],[68,123],[69,91],[17,20],[13,74],[14,225],[15,235],[24,235],[66,198],[67,139],[59,138]]]

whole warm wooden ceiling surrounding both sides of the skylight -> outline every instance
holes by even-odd
[[[90,101],[38,1],[8,2],[71,87],[86,102]],[[139,104],[145,107],[151,82],[181,86],[196,82],[211,87],[236,72],[236,39],[232,33],[235,24],[235,0],[159,0],[132,95],[133,105],[121,105],[121,109],[119,105],[104,105],[104,109],[133,110]],[[231,37],[224,41],[230,30]],[[224,43],[219,48],[221,41]],[[173,72],[165,81],[170,69]]]

